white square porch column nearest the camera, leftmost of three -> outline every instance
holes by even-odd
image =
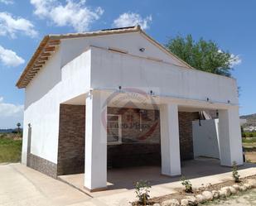
[[[92,91],[86,98],[85,113],[85,188],[90,191],[107,187],[107,131],[103,93]]]

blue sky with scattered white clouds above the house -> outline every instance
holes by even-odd
[[[22,122],[24,91],[15,84],[43,36],[134,22],[162,44],[191,34],[238,55],[240,114],[256,113],[255,9],[254,0],[0,0],[0,128]]]

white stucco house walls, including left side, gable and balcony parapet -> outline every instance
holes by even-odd
[[[140,57],[89,46],[115,47]],[[139,51],[141,47],[146,50]],[[31,153],[57,162],[60,103],[89,89],[118,89],[120,85],[148,88],[148,92],[152,89],[160,96],[238,103],[234,79],[173,64],[180,63],[139,33],[62,40],[55,55],[25,89],[22,162],[27,160],[28,123]]]

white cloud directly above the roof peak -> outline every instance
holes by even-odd
[[[113,25],[117,27],[135,26],[140,25],[142,29],[148,29],[149,23],[152,22],[152,16],[142,18],[140,14],[127,12],[121,14],[117,19],[114,20]]]

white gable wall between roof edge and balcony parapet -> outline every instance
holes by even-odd
[[[116,48],[119,50],[128,51],[129,54],[140,55],[144,57],[154,57],[177,65],[182,65],[176,58],[172,58],[163,50],[154,46],[151,41],[148,41],[139,32],[127,34],[115,34],[106,36],[89,36],[76,39],[65,39],[61,41],[61,45],[65,50],[61,50],[61,63],[63,66],[73,60],[76,56],[85,52],[89,46],[99,46],[104,48]],[[144,48],[141,52],[139,49]]]

